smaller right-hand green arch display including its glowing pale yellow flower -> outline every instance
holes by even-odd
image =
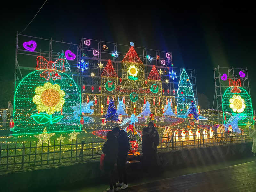
[[[234,94],[232,90],[235,88],[239,89],[240,92]],[[226,89],[222,97],[222,111],[224,123],[226,123],[227,120],[229,121],[231,116],[234,116],[232,115],[234,112],[246,115],[245,118],[243,116],[242,119],[238,119],[238,125],[245,126],[248,121],[253,123],[252,100],[247,91],[242,87],[230,86]]]

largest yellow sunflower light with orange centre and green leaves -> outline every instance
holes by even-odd
[[[57,123],[63,116],[55,116],[52,114],[55,111],[60,111],[65,100],[63,99],[65,92],[60,90],[60,85],[47,82],[44,86],[38,86],[35,89],[36,95],[33,97],[33,102],[36,104],[36,109],[39,112],[46,112],[47,114],[35,114],[32,117],[37,123],[45,124]]]

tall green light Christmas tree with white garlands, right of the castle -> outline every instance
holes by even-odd
[[[187,105],[190,105],[191,101],[193,101],[194,104],[196,105],[192,84],[189,81],[188,74],[185,71],[185,69],[183,69],[180,75],[180,82],[179,82],[179,88],[178,88],[177,94],[178,94],[178,100],[177,100],[178,114],[185,114],[188,110]]]

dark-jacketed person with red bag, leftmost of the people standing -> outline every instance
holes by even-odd
[[[104,171],[109,177],[109,187],[107,191],[114,192],[117,191],[115,176],[114,176],[114,165],[117,159],[118,152],[118,141],[112,131],[107,133],[107,141],[102,146],[102,152],[105,154],[104,158]],[[114,189],[113,189],[114,187]]]

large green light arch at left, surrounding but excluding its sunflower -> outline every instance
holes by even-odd
[[[13,102],[13,116],[14,116],[13,118],[15,123],[14,124],[15,126],[13,128],[14,135],[42,133],[45,126],[47,128],[47,132],[70,132],[70,131],[73,131],[73,129],[75,129],[75,131],[81,130],[79,117],[77,118],[71,117],[73,116],[73,112],[64,110],[64,108],[68,110],[70,106],[76,106],[76,104],[80,104],[77,109],[72,109],[72,110],[80,109],[81,111],[81,92],[76,82],[74,81],[73,78],[71,78],[67,74],[55,69],[52,69],[52,72],[58,73],[61,76],[61,79],[56,79],[55,81],[53,81],[50,78],[48,81],[46,81],[46,79],[41,77],[40,74],[47,70],[49,69],[40,69],[40,70],[36,70],[29,73],[20,81],[20,83],[16,87],[15,93],[14,93],[14,102]],[[35,81],[32,81],[33,76],[35,76],[35,79],[34,79]],[[36,78],[37,78],[37,82],[36,82]],[[66,116],[65,118],[63,118],[62,122],[59,122],[58,124],[54,124],[54,125],[35,124],[35,121],[31,117],[31,115],[36,114],[36,104],[33,103],[32,99],[33,99],[33,96],[35,95],[35,88],[37,86],[43,86],[44,83],[46,82],[50,82],[52,84],[59,84],[61,89],[64,90],[65,103],[63,105],[63,114],[66,112],[66,114],[68,114],[67,116],[70,116],[70,119],[67,119],[67,116]],[[34,86],[32,86],[31,84],[34,84]],[[70,87],[69,84],[72,84],[72,88]],[[65,88],[67,88],[67,91],[65,91]],[[24,92],[21,93],[22,91]],[[74,94],[74,92],[77,92],[77,93]],[[66,94],[69,95],[68,98],[66,98]],[[23,98],[22,98],[22,95],[24,96]],[[24,100],[23,102],[26,101],[27,104],[24,106],[18,106],[21,100]],[[26,108],[26,109],[22,111],[21,108]],[[60,114],[60,112],[55,112],[55,113]],[[24,116],[22,116],[22,114]]]

